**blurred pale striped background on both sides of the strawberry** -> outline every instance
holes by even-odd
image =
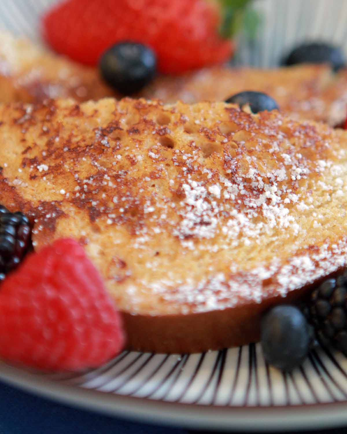
[[[57,0],[1,0],[0,30],[39,41],[39,17],[54,3]],[[318,39],[340,45],[347,56],[345,0],[255,0],[254,7],[263,25],[255,42],[241,38],[236,64],[274,67],[293,46]]]

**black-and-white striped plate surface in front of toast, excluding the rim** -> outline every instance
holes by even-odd
[[[41,374],[44,375],[44,374]],[[84,374],[47,378],[109,394],[231,407],[275,407],[347,402],[347,359],[313,351],[300,368],[268,366],[260,344],[202,354],[123,352]]]

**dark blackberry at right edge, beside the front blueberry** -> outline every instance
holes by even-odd
[[[314,289],[306,315],[318,341],[347,356],[347,269]]]

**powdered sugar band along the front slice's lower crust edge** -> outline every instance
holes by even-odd
[[[202,280],[197,287],[193,283],[180,285],[174,293],[168,292],[165,286],[153,289],[164,299],[183,306],[182,313],[185,305],[194,306],[194,312],[207,312],[232,308],[236,304],[261,303],[268,296],[285,297],[289,291],[309,285],[346,263],[347,237],[334,247],[324,244],[317,252],[295,256],[285,264],[274,259],[270,265],[259,266],[248,273],[236,273],[232,277],[218,273]],[[271,283],[264,286],[264,281],[269,279]]]

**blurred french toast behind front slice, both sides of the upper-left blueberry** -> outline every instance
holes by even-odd
[[[49,98],[77,101],[120,98],[96,68],[79,65],[27,39],[0,33],[0,101],[35,102]],[[278,69],[217,66],[182,76],[159,76],[137,96],[164,102],[223,101],[244,91],[271,95],[280,109],[301,119],[340,123],[346,116],[346,72],[335,80],[327,65]]]

